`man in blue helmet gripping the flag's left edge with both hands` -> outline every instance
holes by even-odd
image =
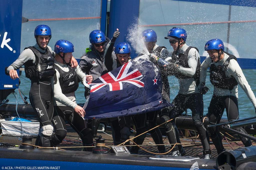
[[[54,114],[52,121],[55,125],[56,133],[52,135],[51,142],[57,146],[67,135],[65,120],[80,136],[83,146],[93,146],[92,133],[87,128],[87,123],[83,119],[86,114],[81,106],[76,103],[75,91],[78,88],[78,79],[81,83],[89,87],[92,76],[86,75],[79,66],[72,68],[69,64],[74,46],[67,40],[58,40],[54,46],[55,70],[56,74],[52,79],[51,86],[54,92]],[[84,148],[84,151],[92,151],[92,148]]]

